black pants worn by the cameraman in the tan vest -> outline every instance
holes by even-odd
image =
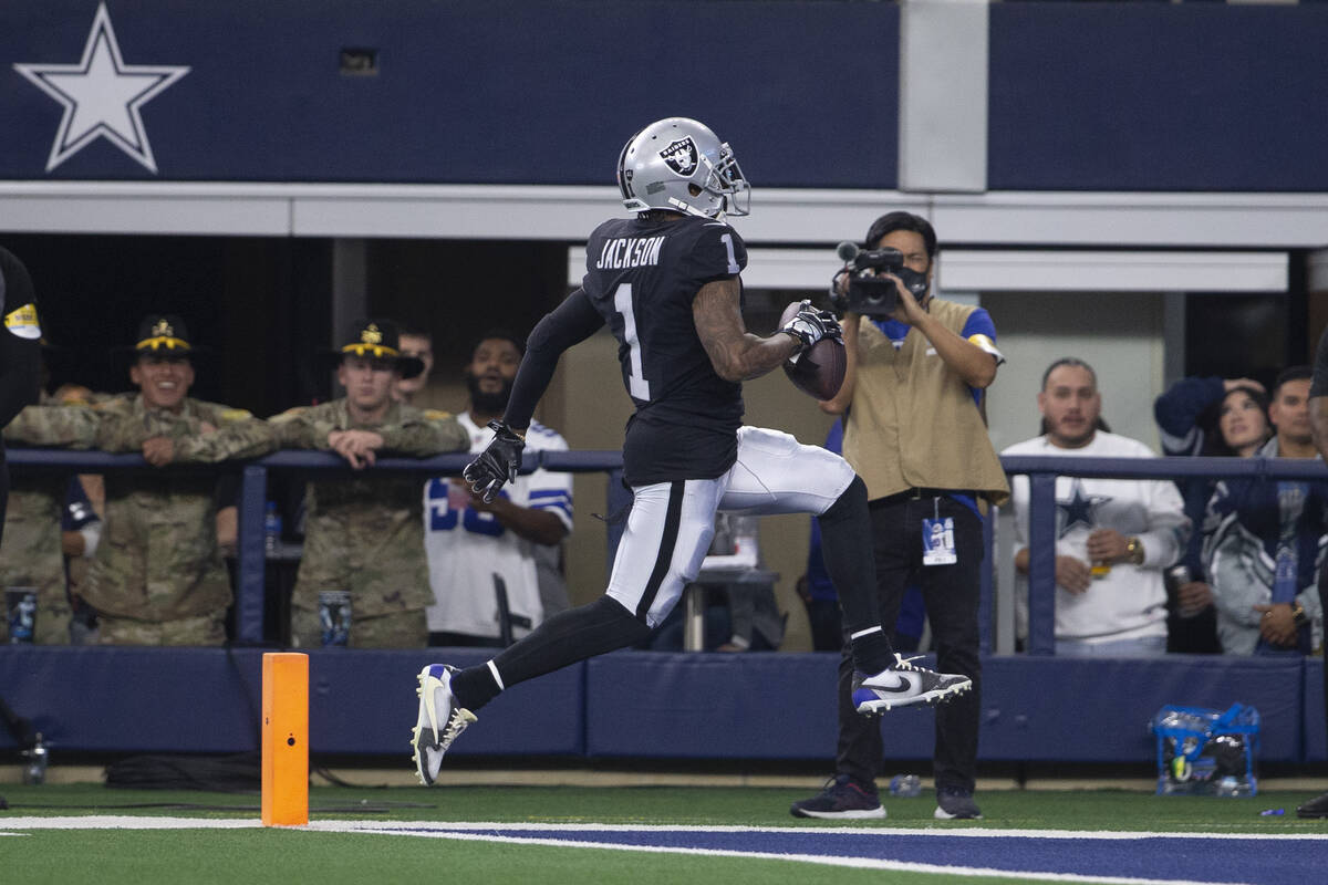
[[[922,564],[922,520],[938,515],[955,520],[954,565]],[[983,521],[952,498],[887,499],[871,503],[871,531],[876,559],[876,590],[880,624],[894,633],[899,604],[910,580],[922,588],[936,649],[936,669],[961,673],[973,681],[972,691],[936,707],[936,743],[932,774],[938,787],[971,791],[977,768],[977,722],[981,711],[981,661],[977,655],[977,604],[981,596]],[[894,637],[891,636],[891,640]],[[871,782],[880,774],[882,722],[863,716],[851,701],[853,658],[845,644],[839,659],[838,774]]]

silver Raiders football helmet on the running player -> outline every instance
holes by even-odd
[[[746,215],[752,200],[733,149],[687,117],[656,121],[627,139],[618,158],[618,186],[623,206],[633,212]]]

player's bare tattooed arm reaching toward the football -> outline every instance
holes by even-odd
[[[706,283],[692,301],[692,318],[710,365],[725,381],[760,378],[802,349],[791,334],[776,332],[769,338],[752,334],[738,309],[738,279]]]

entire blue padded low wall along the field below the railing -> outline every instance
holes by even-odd
[[[473,649],[309,653],[313,752],[405,759],[414,674]],[[519,685],[481,711],[458,758],[830,759],[838,657],[619,651]],[[262,650],[0,646],[0,697],[56,751],[259,747]],[[1323,662],[1181,657],[984,661],[985,760],[1147,762],[1165,705],[1254,706],[1263,762],[1321,762]],[[931,756],[932,714],[882,718],[884,754]],[[0,748],[12,748],[0,732]]]

